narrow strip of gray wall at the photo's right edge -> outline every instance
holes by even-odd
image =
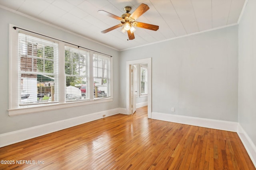
[[[248,4],[239,25],[238,122],[256,145],[256,1]]]

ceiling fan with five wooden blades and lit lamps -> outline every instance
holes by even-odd
[[[132,13],[130,14],[129,12],[132,10],[130,6],[124,7],[124,11],[126,12],[123,14],[121,17],[118,17],[114,14],[110,14],[109,12],[106,12],[104,10],[99,10],[98,12],[101,14],[104,14],[106,16],[109,16],[111,18],[114,18],[116,20],[120,20],[121,23],[118,25],[115,25],[113,27],[110,27],[108,29],[105,29],[104,31],[101,31],[101,33],[107,33],[109,31],[112,31],[116,28],[122,27],[122,32],[125,33],[127,31],[128,33],[128,38],[130,40],[134,39],[134,31],[136,30],[134,27],[140,27],[140,28],[145,28],[145,29],[150,29],[153,31],[157,31],[159,26],[158,25],[152,25],[149,23],[142,23],[142,22],[137,22],[137,20],[142,14],[144,14],[147,10],[149,10],[149,7],[146,4],[140,4],[140,6]]]

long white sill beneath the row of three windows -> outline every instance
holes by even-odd
[[[50,110],[57,110],[57,109],[64,109],[69,107],[78,107],[78,106],[85,106],[89,104],[97,104],[102,102],[112,102],[113,98],[105,98],[105,99],[98,99],[98,100],[90,100],[90,101],[81,101],[81,102],[67,102],[63,104],[49,104],[46,106],[32,106],[32,107],[21,107],[17,109],[8,109],[9,116],[15,115],[24,115],[29,113],[37,113],[42,111],[50,111]]]

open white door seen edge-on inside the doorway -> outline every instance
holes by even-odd
[[[130,65],[130,114],[136,111],[136,67]]]

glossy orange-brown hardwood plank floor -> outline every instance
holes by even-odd
[[[0,160],[1,170],[255,170],[236,133],[148,119],[147,107],[2,147]]]

